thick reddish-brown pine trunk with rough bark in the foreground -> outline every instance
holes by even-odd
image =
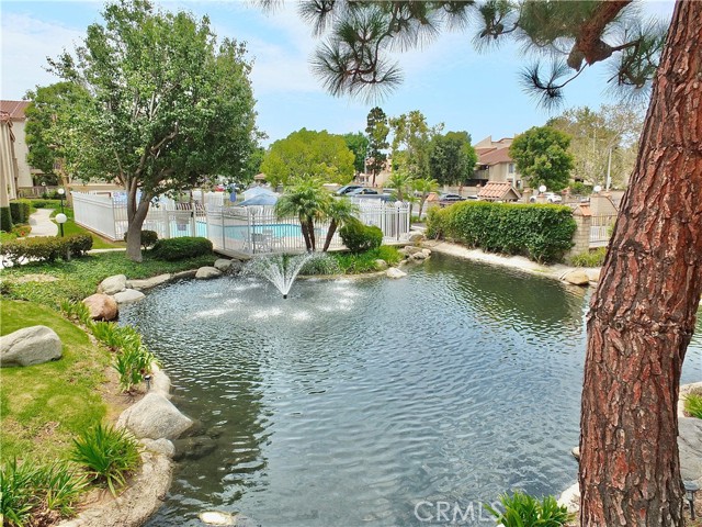
[[[639,155],[590,303],[584,527],[682,526],[680,370],[702,292],[702,2],[676,5]]]

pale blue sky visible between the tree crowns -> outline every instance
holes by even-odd
[[[251,80],[259,127],[267,144],[305,126],[332,133],[365,128],[370,104],[327,94],[312,75],[308,58],[317,41],[287,2],[265,14],[245,1],[158,1],[161,9],[208,14],[220,36],[247,42],[254,60]],[[0,97],[21,99],[27,89],[56,79],[43,68],[47,56],[71,49],[86,27],[99,22],[102,1],[0,1]],[[643,3],[647,14],[670,19],[672,1]],[[429,124],[465,130],[474,142],[488,135],[513,136],[551,115],[519,85],[529,59],[512,45],[478,54],[469,33],[445,33],[421,51],[398,56],[405,81],[380,102],[388,115],[420,110]],[[598,108],[613,100],[604,93],[604,68],[595,67],[568,86],[564,108]],[[559,113],[559,112],[556,112]]]

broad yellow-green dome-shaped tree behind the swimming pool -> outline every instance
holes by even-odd
[[[261,171],[273,187],[303,175],[346,184],[353,179],[353,153],[340,135],[302,128],[271,145]]]

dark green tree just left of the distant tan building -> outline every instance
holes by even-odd
[[[454,184],[471,178],[478,155],[467,132],[446,132],[431,139],[429,173],[439,184]]]

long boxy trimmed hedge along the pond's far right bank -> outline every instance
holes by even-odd
[[[427,235],[490,253],[523,255],[539,262],[563,259],[576,223],[568,206],[462,202],[430,209]]]

